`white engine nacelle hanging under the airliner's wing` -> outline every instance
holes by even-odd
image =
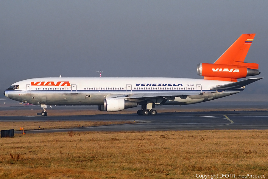
[[[99,105],[100,111],[121,111],[127,108],[137,107],[138,103],[128,101],[123,98],[106,98],[104,99],[103,106]]]

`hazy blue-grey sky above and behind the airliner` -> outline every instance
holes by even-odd
[[[0,95],[37,77],[197,75],[242,34],[267,88],[268,1],[0,1]]]

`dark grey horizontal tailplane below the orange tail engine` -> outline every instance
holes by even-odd
[[[255,81],[258,81],[262,78],[249,78],[246,80],[241,80],[241,81],[237,81],[237,82],[233,82],[233,83],[228,83],[228,84],[224,84],[224,85],[220,85],[220,86],[216,86],[216,87],[212,87],[210,88],[210,90],[232,90],[232,89],[237,89],[237,88],[241,88],[244,87],[250,83],[253,83]]]

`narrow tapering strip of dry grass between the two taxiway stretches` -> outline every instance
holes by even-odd
[[[132,124],[134,121],[5,121],[0,122],[0,130],[15,129],[42,130],[42,129],[66,129],[77,127],[104,126],[115,124]],[[40,127],[40,129],[39,129]]]

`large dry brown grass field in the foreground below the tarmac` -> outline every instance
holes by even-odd
[[[268,130],[80,132],[1,138],[0,178],[195,178],[264,174]],[[10,156],[21,156],[17,160]]]

